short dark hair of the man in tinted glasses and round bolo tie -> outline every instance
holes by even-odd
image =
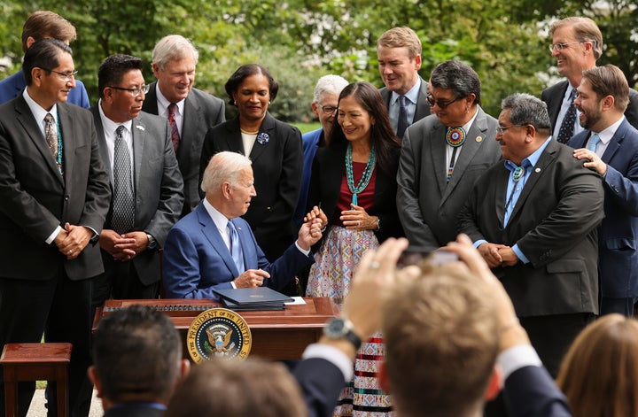
[[[451,89],[458,98],[476,97],[474,104],[480,104],[480,80],[471,66],[461,61],[450,60],[435,66],[430,75],[430,84],[437,89]]]

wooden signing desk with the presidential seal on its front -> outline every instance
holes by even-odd
[[[237,312],[253,334],[250,356],[265,359],[300,359],[308,344],[313,344],[322,335],[323,325],[338,315],[338,307],[330,298],[304,298],[305,305],[286,305],[285,310],[264,312]],[[152,299],[152,300],[107,300],[97,310],[93,328],[104,316],[128,305],[149,305],[167,313],[180,331],[184,340],[184,357],[188,358],[185,340],[188,328],[200,313],[221,304],[206,300]]]

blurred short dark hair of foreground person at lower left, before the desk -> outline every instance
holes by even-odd
[[[131,305],[100,320],[93,362],[105,397],[169,398],[180,376],[182,340],[164,313]]]

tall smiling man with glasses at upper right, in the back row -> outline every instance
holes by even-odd
[[[578,114],[573,100],[582,80],[582,72],[595,67],[596,59],[603,54],[603,34],[595,21],[589,18],[569,17],[556,20],[549,27],[552,36],[551,54],[556,58],[558,73],[567,80],[544,89],[541,99],[548,104],[553,137],[567,143],[572,135],[580,133]],[[638,128],[638,91],[631,89],[626,107],[626,120]],[[565,116],[567,120],[564,123]]]

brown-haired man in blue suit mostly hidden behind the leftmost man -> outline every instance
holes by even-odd
[[[46,10],[31,14],[22,27],[22,51],[27,50],[40,39],[58,39],[67,45],[75,40],[75,27],[68,20],[54,12]],[[27,81],[21,71],[0,81],[0,104],[18,97],[27,87]],[[89,96],[82,81],[75,80],[75,87],[69,91],[66,103],[89,108]]]

